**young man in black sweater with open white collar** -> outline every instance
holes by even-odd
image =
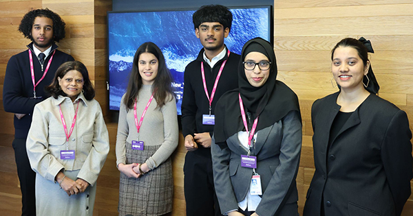
[[[184,72],[182,134],[188,150],[184,164],[187,216],[221,215],[213,186],[210,147],[215,104],[226,91],[238,86],[240,56],[224,45],[231,23],[232,14],[222,5],[205,5],[193,14],[195,35],[204,49]]]

